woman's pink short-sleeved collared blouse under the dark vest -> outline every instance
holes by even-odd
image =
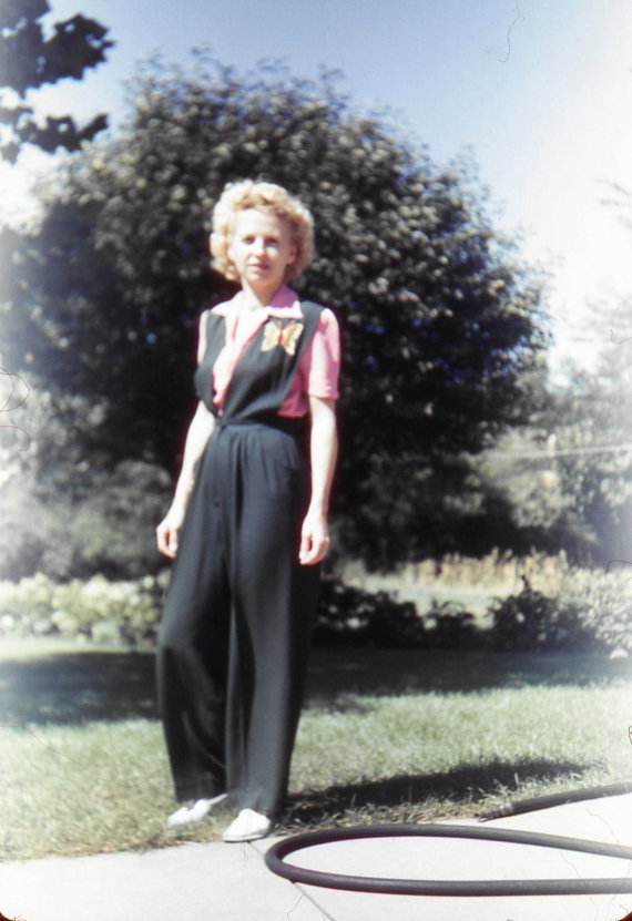
[[[271,317],[287,319],[300,319],[303,317],[298,295],[292,288],[283,285],[267,307],[247,311],[237,325],[239,304],[243,297],[243,291],[238,291],[231,300],[218,304],[213,308],[214,314],[220,314],[226,318],[226,344],[217,356],[213,369],[213,402],[220,413],[235,365],[263,324]],[[200,318],[198,361],[202,360],[206,351],[207,317],[208,311],[205,310]],[[300,357],[298,370],[279,409],[279,416],[305,416],[309,409],[308,397],[336,400],[338,398],[339,369],[340,335],[338,321],[332,310],[325,307],[320,313],[314,336]]]

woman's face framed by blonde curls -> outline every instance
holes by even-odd
[[[242,285],[274,294],[296,257],[288,222],[256,208],[237,212],[228,257]]]

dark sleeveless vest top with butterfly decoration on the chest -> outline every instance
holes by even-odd
[[[247,344],[233,370],[222,408],[222,421],[275,424],[303,352],[316,330],[322,307],[300,301],[300,319],[269,317]],[[226,318],[208,314],[206,351],[195,372],[195,389],[206,408],[213,403],[213,368],[226,342]]]

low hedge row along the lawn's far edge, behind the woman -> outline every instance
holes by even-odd
[[[100,645],[155,644],[167,575],[134,582],[93,576],[57,584],[44,575],[0,582],[0,636],[61,636]],[[323,645],[420,646],[516,652],[632,652],[632,581],[578,571],[553,596],[526,583],[491,608],[491,626],[451,604],[420,615],[410,602],[326,577],[315,625]]]

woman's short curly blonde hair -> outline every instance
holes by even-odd
[[[309,211],[283,186],[252,180],[228,183],[213,208],[213,268],[230,282],[237,280],[235,266],[228,256],[228,246],[235,229],[235,216],[237,212],[247,208],[256,208],[287,221],[292,229],[292,243],[296,246],[296,256],[287,266],[285,280],[300,275],[313,256],[314,221]]]

